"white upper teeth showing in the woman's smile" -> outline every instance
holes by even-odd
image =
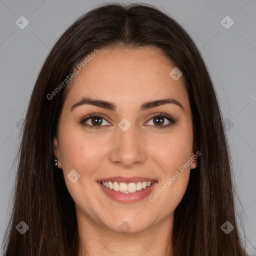
[[[116,182],[116,181],[101,181],[101,184],[109,189],[113,189],[114,191],[119,191],[122,193],[134,193],[135,191],[139,191],[142,188],[146,188],[150,186],[153,181],[139,181],[139,182],[131,182],[131,183],[124,183],[124,182]]]

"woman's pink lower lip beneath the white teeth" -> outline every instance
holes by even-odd
[[[102,190],[112,199],[114,199],[117,202],[136,202],[139,200],[144,199],[146,196],[149,195],[153,187],[156,185],[157,181],[153,181],[153,184],[150,186],[147,186],[146,188],[142,188],[139,191],[136,191],[134,193],[121,193],[114,191],[113,189],[106,188],[101,184],[100,181],[98,181],[98,184],[102,188]]]

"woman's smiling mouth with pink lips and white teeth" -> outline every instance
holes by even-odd
[[[111,177],[98,180],[105,194],[118,202],[135,202],[145,198],[158,183],[142,177]]]

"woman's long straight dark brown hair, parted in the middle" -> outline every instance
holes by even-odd
[[[77,255],[74,201],[54,163],[53,136],[70,84],[49,99],[81,59],[94,49],[154,46],[183,73],[193,118],[197,167],[174,211],[169,244],[174,256],[244,256],[235,220],[228,144],[204,61],[188,33],[148,4],[101,4],[78,18],[57,40],[38,74],[27,109],[15,179],[13,209],[4,236],[9,255]],[[234,229],[226,234],[221,225]],[[16,225],[29,229],[20,234]],[[171,252],[166,252],[171,255]]]

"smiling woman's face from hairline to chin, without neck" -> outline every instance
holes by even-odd
[[[102,49],[66,85],[53,142],[77,219],[140,232],[173,216],[196,167],[188,95],[174,67],[157,48]]]

